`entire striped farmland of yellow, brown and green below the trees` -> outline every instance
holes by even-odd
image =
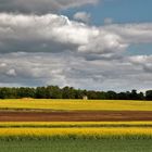
[[[0,100],[3,152],[149,152],[151,143],[152,102]]]

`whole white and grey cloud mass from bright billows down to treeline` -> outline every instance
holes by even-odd
[[[152,56],[125,55],[139,43],[152,43],[151,23],[99,27],[52,13],[0,13],[0,86],[150,88]]]

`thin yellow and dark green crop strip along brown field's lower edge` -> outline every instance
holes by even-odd
[[[152,122],[1,122],[0,128],[21,127],[152,127]]]

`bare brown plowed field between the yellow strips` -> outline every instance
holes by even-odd
[[[152,121],[152,112],[74,111],[74,112],[0,112],[0,122],[102,122]]]

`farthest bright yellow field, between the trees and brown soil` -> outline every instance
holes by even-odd
[[[117,100],[50,100],[50,99],[15,99],[0,100],[0,109],[48,109],[48,110],[90,110],[90,111],[152,111],[150,101]]]

